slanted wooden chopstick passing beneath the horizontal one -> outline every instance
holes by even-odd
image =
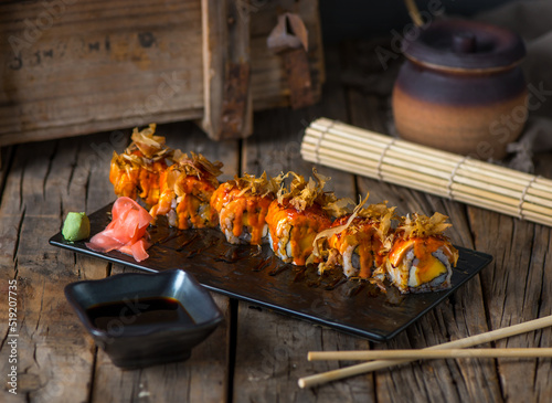
[[[466,337],[464,339],[458,339],[454,341],[448,341],[443,344],[432,346],[422,351],[427,350],[446,350],[446,349],[463,349],[466,347],[474,347],[477,344],[482,344],[489,341],[495,341],[499,339],[503,339],[507,337],[526,333],[528,331],[533,331],[538,329],[542,329],[545,327],[552,326],[552,315],[546,316],[544,318],[539,318],[534,320],[529,320],[523,324],[509,326],[506,328],[487,331],[485,333],[475,335],[470,337]],[[341,368],[339,370],[317,373],[310,377],[304,377],[298,380],[299,388],[311,388],[315,385],[319,385],[322,383],[336,381],[339,379],[359,375],[361,373],[367,373],[375,370],[381,370],[384,368],[397,365],[401,363],[412,362],[414,360],[405,359],[405,360],[379,360],[379,361],[370,361],[363,362],[357,365],[351,365],[347,368]]]

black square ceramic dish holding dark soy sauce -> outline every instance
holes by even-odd
[[[115,365],[124,369],[187,360],[191,349],[223,320],[209,291],[181,269],[127,273],[72,283],[65,287],[65,296],[95,342]],[[142,314],[156,314],[147,309],[153,306],[159,309],[160,298],[171,301],[167,305],[170,309],[181,306],[185,314],[180,318],[188,319],[177,320],[174,314],[167,311],[161,312],[170,314],[171,319],[166,321],[141,320]],[[109,311],[109,308],[119,309],[119,314],[114,315],[107,326],[98,326],[93,312]],[[110,311],[113,314],[113,309]]]

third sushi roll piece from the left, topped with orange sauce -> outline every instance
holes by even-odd
[[[283,176],[268,179],[245,174],[222,183],[211,199],[219,213],[221,231],[231,244],[262,245],[267,241],[266,214],[276,197]]]

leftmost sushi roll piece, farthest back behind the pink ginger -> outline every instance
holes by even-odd
[[[160,177],[167,170],[167,159],[172,151],[166,147],[164,137],[155,136],[156,124],[132,131],[132,142],[125,152],[114,151],[109,181],[117,197],[137,200],[138,197],[151,206],[159,201]]]

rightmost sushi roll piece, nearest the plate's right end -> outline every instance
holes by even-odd
[[[443,232],[452,224],[435,213],[432,218],[414,214],[401,220],[386,258],[391,283],[403,294],[450,288],[452,267],[458,251]]]

